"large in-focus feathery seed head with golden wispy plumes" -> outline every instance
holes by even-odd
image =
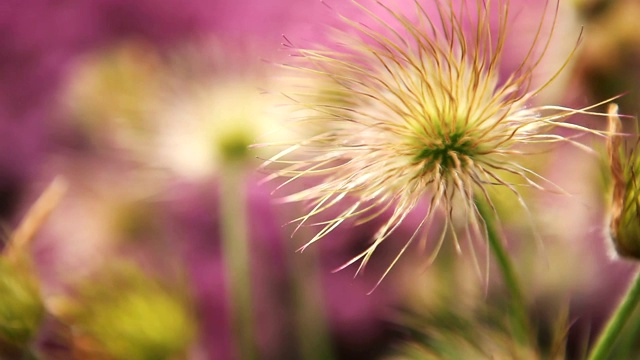
[[[298,227],[338,211],[314,224],[320,230],[302,249],[348,219],[359,224],[388,212],[371,245],[344,265],[359,261],[360,271],[424,204],[426,213],[382,278],[411,243],[424,246],[438,213],[443,224],[433,256],[447,232],[458,249],[464,237],[473,251],[472,239],[486,238],[476,201],[496,211],[491,187],[508,189],[528,212],[518,187],[554,186],[524,165],[530,146],[564,142],[590,151],[571,136],[550,132],[556,127],[602,135],[564,122],[577,113],[603,115],[592,111],[601,104],[532,105],[577,48],[548,81],[534,85],[534,71],[551,43],[557,3],[555,11],[545,5],[521,65],[507,75],[500,73],[509,31],[507,0],[414,0],[408,12],[382,1],[375,7],[353,4],[365,20],[341,16],[346,30],[335,31],[333,46],[304,48],[285,38],[293,58],[285,67],[299,75],[298,90],[286,94],[297,111],[292,125],[313,133],[265,162],[264,167],[276,168],[267,180],[283,177],[281,187],[288,187],[303,177],[321,179],[283,199],[310,204],[295,220]],[[519,180],[507,180],[513,178]],[[465,220],[454,221],[458,216]]]

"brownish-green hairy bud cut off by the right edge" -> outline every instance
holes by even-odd
[[[609,132],[607,141],[613,196],[611,201],[610,235],[616,252],[627,258],[640,260],[640,156],[636,152],[640,142],[628,152],[620,136],[622,125],[618,107],[609,107]]]

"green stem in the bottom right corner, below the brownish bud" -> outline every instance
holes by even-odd
[[[609,319],[607,326],[604,328],[598,342],[591,350],[589,360],[607,359],[608,354],[613,349],[618,335],[622,332],[622,328],[631,317],[633,310],[640,302],[640,273],[636,273],[635,279],[629,288],[629,291],[622,299],[620,305],[616,309],[613,316]]]

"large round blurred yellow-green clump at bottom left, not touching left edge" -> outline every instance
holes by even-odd
[[[83,358],[186,358],[195,337],[184,294],[132,267],[91,281],[74,300],[68,315]]]

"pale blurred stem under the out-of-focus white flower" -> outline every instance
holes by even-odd
[[[220,175],[222,250],[229,284],[231,326],[239,359],[257,359],[245,194],[245,169],[228,162]]]

